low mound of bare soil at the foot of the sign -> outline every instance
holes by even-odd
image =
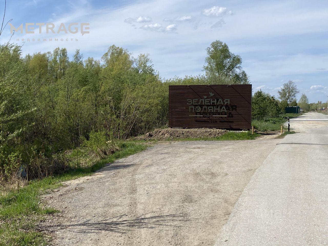
[[[218,137],[227,132],[221,129],[192,128],[192,129],[156,129],[153,132],[136,137],[142,140],[165,140],[176,138]]]

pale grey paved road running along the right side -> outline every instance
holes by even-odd
[[[215,246],[328,245],[328,122],[291,127],[299,133],[287,135],[256,170]]]

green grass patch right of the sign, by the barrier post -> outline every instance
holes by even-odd
[[[295,118],[300,116],[298,113],[286,113],[282,117],[269,118],[265,120],[252,120],[254,129],[260,132],[276,132],[281,130],[281,125],[287,120],[284,117]],[[285,129],[283,127],[283,129]]]

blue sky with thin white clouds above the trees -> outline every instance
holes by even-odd
[[[5,1],[0,2],[3,12]],[[221,40],[241,56],[254,92],[277,96],[293,80],[298,98],[305,93],[310,102],[318,102],[328,95],[327,13],[323,0],[7,0],[5,22],[12,19],[15,28],[34,23],[35,33],[24,29],[10,39],[7,25],[0,43],[23,45],[23,55],[60,47],[71,58],[80,49],[84,58],[95,59],[114,44],[135,57],[149,53],[154,69],[168,79],[203,74],[206,47]],[[61,23],[66,29],[71,23],[89,23],[84,31],[90,33],[82,35],[80,28],[78,33],[46,33],[45,26],[39,33],[35,23],[54,23],[55,31]]]

